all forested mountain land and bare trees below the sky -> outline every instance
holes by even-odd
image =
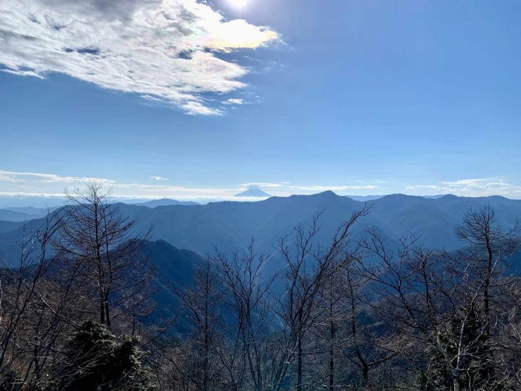
[[[517,201],[66,200],[2,235],[0,389],[521,386]]]

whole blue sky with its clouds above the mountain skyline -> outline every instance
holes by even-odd
[[[242,2],[3,2],[0,193],[521,198],[521,3]]]

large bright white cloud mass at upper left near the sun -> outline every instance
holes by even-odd
[[[245,87],[246,68],[216,54],[280,40],[196,0],[4,0],[0,26],[5,72],[59,72],[205,115],[221,114],[206,94]]]

